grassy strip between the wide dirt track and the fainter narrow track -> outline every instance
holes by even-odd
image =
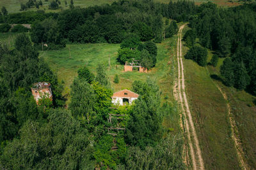
[[[185,54],[188,48],[184,46],[183,50]],[[205,169],[239,169],[234,142],[230,138],[225,100],[205,67],[184,59],[184,68],[186,90]]]

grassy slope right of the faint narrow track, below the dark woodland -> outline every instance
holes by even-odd
[[[211,74],[220,75],[220,66],[223,59],[220,59],[217,67],[207,66]],[[236,133],[239,134],[243,151],[246,157],[246,163],[251,169],[256,169],[256,97],[239,91],[233,87],[225,87],[221,81],[215,81],[228,96],[231,106],[232,117],[236,121]],[[253,104],[254,103],[254,104]]]

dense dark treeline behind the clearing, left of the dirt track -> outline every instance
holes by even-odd
[[[37,3],[29,0],[28,4],[33,6]],[[177,22],[188,21],[195,13],[195,9],[195,4],[189,1],[170,1],[169,4],[161,4],[152,0],[134,0],[88,8],[73,7],[60,13],[26,11],[3,15],[0,18],[2,22],[8,24],[33,24],[33,42],[54,43],[50,45],[54,49],[65,46],[64,39],[74,43],[121,43],[131,33],[138,35],[141,41],[154,39],[156,43],[160,43],[164,36],[168,38],[177,32],[174,21],[164,31],[163,17]],[[42,31],[45,19],[54,20],[53,22],[57,24],[54,41],[45,41],[45,37],[38,34]],[[49,29],[45,31],[49,32]]]

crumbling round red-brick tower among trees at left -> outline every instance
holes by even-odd
[[[31,91],[32,91],[33,97],[36,100],[36,104],[38,104],[38,100],[42,99],[43,97],[47,97],[52,100],[51,83],[44,82],[44,81],[35,83],[31,87]]]

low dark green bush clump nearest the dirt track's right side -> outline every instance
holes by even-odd
[[[199,66],[207,64],[207,49],[201,46],[193,46],[184,56],[185,59],[191,59],[198,63]]]

